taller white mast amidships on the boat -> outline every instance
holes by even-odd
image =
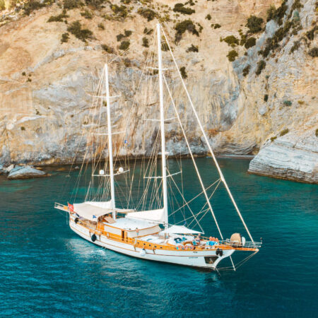
[[[165,114],[163,109],[163,61],[161,55],[160,23],[157,23],[158,38],[158,73],[159,73],[159,93],[160,93],[160,131],[161,131],[161,163],[163,173],[163,211],[165,213],[165,229],[168,227],[167,214],[167,166],[165,163]]]

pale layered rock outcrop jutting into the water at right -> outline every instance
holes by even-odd
[[[318,143],[315,131],[289,133],[266,142],[249,164],[249,172],[318,183]]]

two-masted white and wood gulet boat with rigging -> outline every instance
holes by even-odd
[[[145,119],[152,121],[151,124],[158,124],[158,136],[155,136],[154,148],[158,151],[156,154],[151,153],[145,171],[148,171],[148,175],[142,175],[142,179],[146,186],[144,187],[144,194],[141,196],[142,204],[137,204],[137,208],[131,208],[131,196],[134,195],[134,184],[131,182],[129,189],[129,202],[126,206],[119,208],[118,199],[116,198],[116,181],[117,177],[124,175],[134,178],[134,174],[131,174],[131,169],[128,167],[119,167],[117,170],[114,167],[114,152],[113,152],[113,140],[115,134],[121,134],[121,132],[112,132],[112,113],[111,113],[111,100],[110,86],[109,86],[109,74],[108,65],[105,67],[100,76],[100,83],[98,84],[98,91],[96,93],[96,100],[100,105],[100,114],[105,110],[107,112],[107,133],[105,131],[98,130],[93,131],[92,134],[95,139],[105,141],[107,143],[107,162],[105,167],[101,169],[100,161],[96,159],[96,155],[93,156],[93,168],[91,173],[91,181],[88,187],[88,193],[96,189],[93,187],[93,182],[98,179],[98,187],[96,192],[100,194],[93,195],[91,198],[87,195],[86,199],[82,202],[73,201],[72,204],[55,204],[55,208],[65,211],[69,215],[69,226],[73,232],[76,232],[83,239],[93,242],[95,245],[111,249],[112,251],[122,254],[136,257],[139,259],[147,259],[151,261],[161,261],[172,264],[196,266],[206,269],[218,269],[218,264],[225,258],[230,258],[232,269],[237,269],[244,261],[254,254],[259,252],[261,242],[254,242],[252,235],[250,234],[247,225],[245,224],[242,214],[240,213],[237,204],[230,192],[227,182],[223,176],[220,166],[213,154],[211,145],[208,141],[204,128],[199,120],[199,116],[195,110],[192,99],[189,95],[187,87],[177,66],[169,42],[161,25],[158,23],[156,28],[156,42],[158,47],[158,68],[153,73],[148,75],[151,77],[151,81],[158,83],[159,93],[158,102],[151,102],[148,98],[145,98],[147,105],[159,105],[160,106],[160,119]],[[168,86],[168,79],[165,76],[165,70],[163,68],[162,58],[162,37],[167,45],[168,53],[170,53],[170,59],[172,66],[177,70],[177,76],[181,87],[184,89],[187,99],[189,100],[189,107],[191,107],[194,119],[196,120],[202,137],[208,151],[211,153],[211,158],[216,165],[219,178],[216,182],[213,182],[209,187],[205,187],[202,176],[200,175],[199,168],[196,165],[196,160],[192,153],[189,139],[185,133],[184,125],[182,124],[181,114],[177,110],[177,105],[173,96],[172,90]],[[155,37],[154,37],[155,41]],[[152,56],[153,57],[153,56]],[[155,85],[146,85],[147,88],[152,89]],[[172,119],[165,118],[167,110],[165,110],[164,90],[167,94],[167,98],[170,99],[170,109],[175,112],[175,117]],[[102,117],[100,117],[102,118]],[[101,119],[102,120],[102,119]],[[184,193],[177,187],[175,177],[182,175],[182,170],[179,172],[170,172],[167,166],[167,151],[165,141],[165,126],[168,120],[175,120],[179,126],[180,134],[182,134],[187,148],[189,149],[189,155],[192,159],[194,170],[199,179],[201,186],[201,192],[196,194],[191,200],[185,199]],[[126,140],[124,141],[126,143]],[[105,147],[106,148],[106,147]],[[97,148],[95,148],[97,151]],[[117,151],[119,153],[119,151]],[[158,160],[159,157],[159,160]],[[161,165],[157,166],[160,162]],[[157,175],[158,169],[160,175]],[[105,171],[108,170],[108,171]],[[136,174],[135,174],[136,175]],[[128,178],[129,179],[129,178]],[[172,211],[172,205],[168,201],[168,181],[172,180],[175,187],[178,189],[179,206]],[[183,182],[184,180],[182,180]],[[184,182],[186,182],[185,180]],[[171,183],[170,182],[170,183]],[[230,201],[232,202],[235,211],[237,212],[242,225],[244,226],[249,240],[245,240],[240,233],[234,233],[230,239],[224,239],[220,226],[216,220],[216,214],[213,211],[211,205],[211,196],[215,193],[216,189],[223,184],[228,193]],[[213,186],[213,188],[212,188]],[[208,194],[208,191],[213,189],[212,194]],[[151,193],[151,195],[149,194]],[[190,207],[190,202],[196,199],[198,196],[204,197],[206,204],[201,211],[193,211]],[[99,198],[99,199],[98,199]],[[147,199],[148,198],[148,199]],[[117,200],[116,200],[117,199]],[[157,206],[154,207],[154,202]],[[140,206],[148,206],[148,208],[140,209]],[[181,206],[181,208],[180,208]],[[151,207],[151,208],[149,208]],[[184,222],[172,223],[169,215],[174,214],[176,211],[182,210],[182,208],[188,208],[190,216],[184,214]],[[211,216],[216,223],[216,229],[218,230],[218,236],[205,237],[204,230],[201,228],[199,220],[201,216],[206,213],[211,213]],[[190,228],[188,223],[189,219],[193,223],[199,226],[200,229]],[[243,259],[239,264],[234,264],[232,260],[232,254],[234,252],[250,252],[249,256]],[[128,261],[128,260],[127,260]]]

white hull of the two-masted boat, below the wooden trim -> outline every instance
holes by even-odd
[[[79,225],[70,219],[70,228],[76,234],[83,237],[84,239],[92,242],[90,236],[90,230],[85,228],[83,225]],[[223,250],[223,256],[217,256],[216,250],[206,249],[202,251],[195,250],[166,250],[166,249],[144,249],[142,251],[140,247],[134,247],[131,244],[125,242],[117,242],[115,240],[108,239],[105,235],[96,235],[94,243],[100,247],[111,249],[112,251],[119,252],[122,254],[129,255],[131,257],[137,257],[139,259],[148,259],[151,261],[163,261],[171,264],[179,264],[184,266],[194,266],[206,269],[216,269],[216,266],[222,259],[230,257],[235,249]],[[212,259],[211,259],[212,258]]]

